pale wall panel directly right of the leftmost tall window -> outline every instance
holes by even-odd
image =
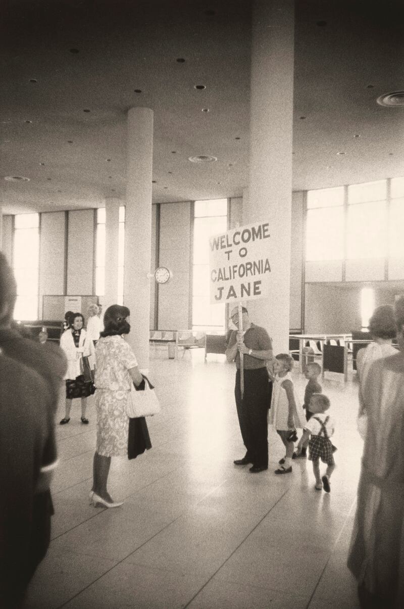
[[[40,315],[43,295],[64,293],[64,211],[41,214]]]

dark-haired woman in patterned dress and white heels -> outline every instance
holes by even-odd
[[[97,446],[94,454],[94,481],[90,493],[93,505],[118,507],[106,490],[111,457],[128,454],[129,417],[126,412],[131,384],[143,377],[138,362],[122,334],[130,333],[130,311],[112,305],[104,315],[104,330],[96,346]]]

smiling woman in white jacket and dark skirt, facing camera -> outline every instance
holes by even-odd
[[[89,422],[86,418],[87,398],[93,392],[93,384],[83,376],[83,357],[89,357],[90,368],[94,370],[95,351],[92,340],[86,339],[83,323],[83,315],[74,313],[69,319],[69,328],[60,337],[60,347],[68,359],[68,371],[64,377],[66,379],[66,405],[64,417],[60,421],[61,425],[69,423],[72,400],[75,398],[80,398],[82,401],[82,423],[88,424]]]

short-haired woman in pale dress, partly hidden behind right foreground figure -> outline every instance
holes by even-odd
[[[390,305],[383,305],[375,309],[374,314],[369,320],[369,334],[374,342],[360,349],[357,354],[357,372],[359,379],[359,412],[358,412],[358,431],[362,438],[366,435],[366,412],[363,403],[363,386],[372,362],[394,355],[395,348],[392,346],[392,339],[395,338],[397,330],[395,328],[394,309]]]

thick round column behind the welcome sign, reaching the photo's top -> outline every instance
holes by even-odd
[[[271,295],[248,303],[275,353],[288,350],[293,127],[293,0],[254,0],[250,175],[243,224],[270,222]]]

